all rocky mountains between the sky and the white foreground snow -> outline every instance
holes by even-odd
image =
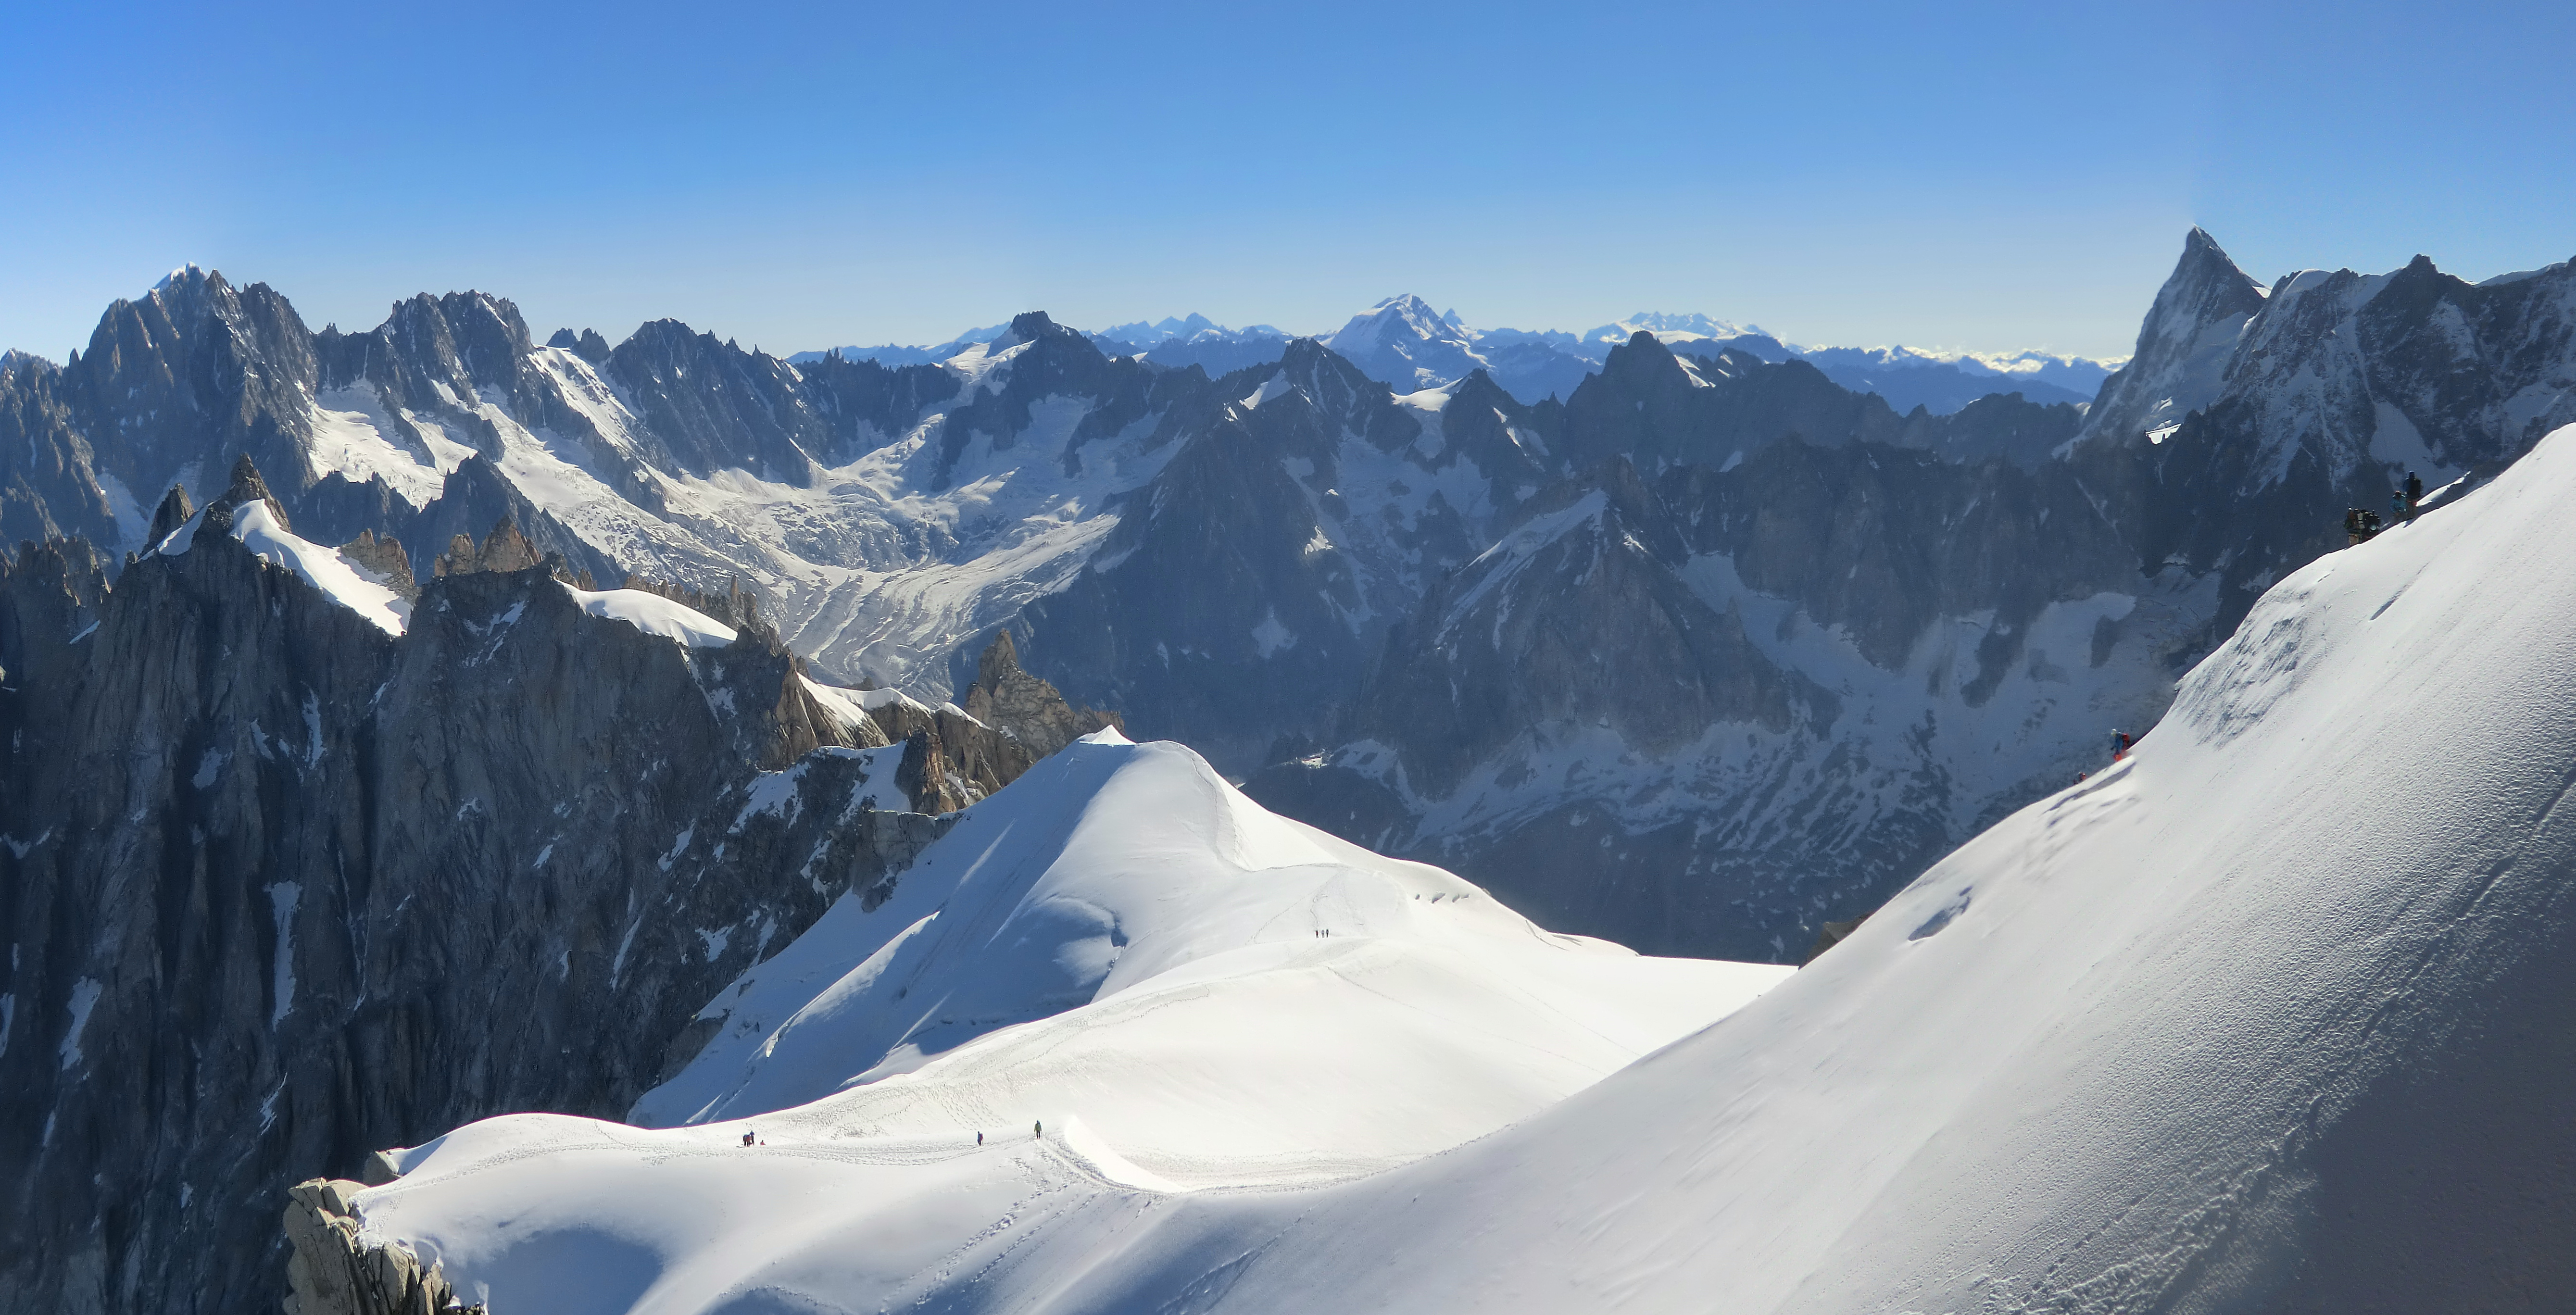
[[[0,1297],[247,1310],[283,1238],[191,1202],[629,1114],[1100,710],[1242,782],[1213,834],[1798,960],[2164,718],[2347,507],[2409,468],[2452,504],[2576,419],[2568,270],[2264,288],[2192,232],[2089,404],[1947,414],[1674,327],[1564,396],[1481,340],[1399,391],[1370,368],[1461,363],[1419,304],[1226,373],[1036,311],[788,363],[541,345],[487,293],[312,332],[180,270],[0,363]],[[1126,898],[1048,955],[1141,944]],[[1097,996],[1074,968],[971,1019]]]

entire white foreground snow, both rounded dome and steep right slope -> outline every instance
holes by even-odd
[[[358,1207],[500,1315],[2553,1307],[2571,502],[2558,430],[2282,579],[1770,991],[1095,736],[708,1006],[636,1114],[732,1122],[489,1119]]]

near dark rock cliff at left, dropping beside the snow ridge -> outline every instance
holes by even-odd
[[[896,764],[829,749],[791,654],[541,566],[433,576],[399,638],[209,528],[103,566],[0,576],[8,1310],[270,1307],[286,1184],[618,1117],[708,993],[945,826],[853,808]]]

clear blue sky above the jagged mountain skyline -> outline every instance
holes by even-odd
[[[15,5],[0,345],[180,262],[773,353],[1020,309],[1708,311],[2125,355],[2257,278],[2576,255],[2576,5]]]

